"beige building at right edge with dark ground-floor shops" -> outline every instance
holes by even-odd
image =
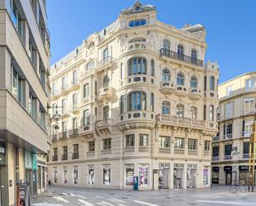
[[[249,137],[254,122],[256,72],[219,85],[220,132],[212,142],[212,184],[249,184]]]

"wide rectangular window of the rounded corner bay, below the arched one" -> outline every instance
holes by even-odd
[[[146,93],[132,92],[128,94],[128,111],[146,110]]]

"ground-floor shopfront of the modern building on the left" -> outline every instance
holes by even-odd
[[[39,160],[42,165],[38,164]],[[0,140],[0,206],[17,205],[17,184],[28,184],[27,195],[29,193],[31,197],[44,192],[46,189],[44,175],[46,175],[44,156]]]

